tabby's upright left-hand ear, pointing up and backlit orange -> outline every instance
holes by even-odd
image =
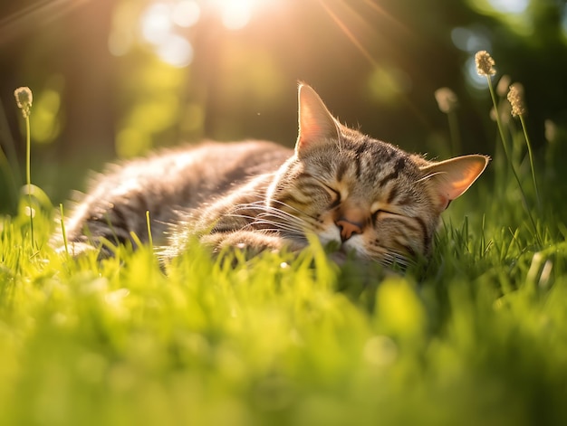
[[[319,95],[306,84],[300,84],[299,100],[299,136],[295,152],[299,155],[303,149],[340,135],[339,123],[332,117]]]

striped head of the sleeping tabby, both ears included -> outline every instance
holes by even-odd
[[[440,214],[488,161],[474,155],[429,162],[362,135],[342,126],[302,84],[295,154],[270,186],[268,204],[293,216],[285,225],[292,231],[390,263],[429,253]]]

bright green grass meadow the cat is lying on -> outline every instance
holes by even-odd
[[[393,273],[315,241],[72,259],[35,188],[0,222],[0,424],[565,424],[567,140],[549,123],[532,164],[506,113],[431,259]]]

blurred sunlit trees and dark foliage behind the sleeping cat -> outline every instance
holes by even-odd
[[[83,189],[89,169],[150,148],[292,147],[298,80],[342,122],[430,157],[451,154],[434,98],[447,86],[459,99],[455,154],[493,154],[478,50],[496,79],[524,84],[536,152],[546,120],[567,121],[560,0],[4,0],[0,16],[0,213],[14,211],[24,177],[20,86],[34,92],[33,182],[53,203]]]

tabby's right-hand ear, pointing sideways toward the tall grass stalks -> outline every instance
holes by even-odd
[[[421,167],[423,180],[427,180],[437,195],[439,211],[456,197],[465,193],[484,171],[490,158],[488,156],[456,156],[446,161]]]

